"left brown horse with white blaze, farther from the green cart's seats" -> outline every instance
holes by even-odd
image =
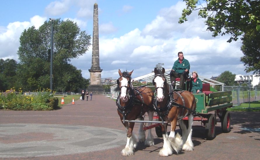
[[[131,72],[121,72],[118,70],[119,78],[117,79],[117,89],[119,95],[116,100],[117,112],[120,116],[121,122],[127,131],[127,143],[121,154],[123,156],[134,155],[134,149],[137,146],[137,137],[132,133],[135,122],[126,122],[126,120],[144,120],[143,115],[147,112],[149,121],[153,120],[153,91],[146,87],[134,88],[131,83]],[[149,123],[148,125],[151,125]],[[154,145],[153,135],[149,129],[148,136],[145,139],[145,132],[143,130],[144,122],[140,123],[139,127],[139,142],[146,146]]]

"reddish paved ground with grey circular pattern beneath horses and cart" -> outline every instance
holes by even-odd
[[[260,112],[231,112],[231,132],[222,133],[218,122],[211,141],[195,125],[201,126],[194,122],[191,152],[160,157],[163,139],[153,128],[154,146],[140,143],[135,155],[123,157],[126,132],[115,102],[104,95],[55,111],[0,110],[0,159],[259,159]]]

